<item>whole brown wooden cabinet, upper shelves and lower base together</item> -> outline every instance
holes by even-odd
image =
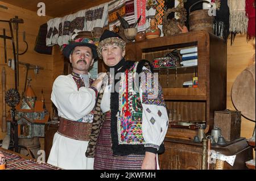
[[[191,67],[155,69],[163,87],[164,100],[169,111],[176,110],[183,122],[201,122],[205,133],[213,128],[214,111],[226,109],[227,48],[224,40],[207,31],[181,33],[156,39],[128,43],[127,60],[154,61],[165,57],[174,49],[197,47],[197,65]],[[183,82],[198,78],[198,87],[183,87]],[[161,169],[201,169],[202,144],[193,142],[196,129],[169,127],[164,145],[166,151],[159,155]],[[212,146],[225,155],[237,155],[234,166],[225,163],[224,169],[246,169],[245,161],[251,159],[252,149],[245,138],[228,142],[226,146]],[[211,167],[213,169],[213,165]]]

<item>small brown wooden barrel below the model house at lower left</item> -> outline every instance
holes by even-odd
[[[40,150],[39,137],[34,138],[19,138],[19,145],[26,146],[32,151],[35,158],[38,158],[38,150]],[[20,149],[20,154],[28,155],[28,151],[25,149]],[[29,155],[28,155],[29,156]]]

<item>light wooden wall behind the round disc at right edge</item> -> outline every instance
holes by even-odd
[[[247,66],[252,64],[252,57],[255,53],[255,40],[247,43],[245,35],[237,35],[234,43],[230,46],[228,42],[228,71],[227,71],[227,98],[226,107],[229,110],[236,110],[231,100],[231,89],[237,75],[239,75]],[[242,117],[241,136],[250,138],[253,136],[255,123]]]

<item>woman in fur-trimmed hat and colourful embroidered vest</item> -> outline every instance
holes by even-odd
[[[98,54],[110,76],[100,104],[105,117],[99,126],[94,169],[159,169],[158,152],[168,128],[162,88],[146,61],[125,60],[125,41],[116,33],[104,31]],[[86,155],[93,151],[89,146]]]

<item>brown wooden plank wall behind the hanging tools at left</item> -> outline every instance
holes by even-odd
[[[41,90],[43,89],[44,98],[46,100],[46,108],[51,111],[51,91],[53,82],[53,56],[40,54],[35,52],[34,45],[36,41],[36,36],[38,35],[40,25],[47,22],[48,19],[52,17],[49,16],[38,16],[36,12],[30,10],[22,9],[17,6],[10,5],[0,1],[0,4],[8,7],[8,9],[0,8],[0,19],[9,20],[18,16],[24,20],[23,24],[19,24],[19,52],[23,52],[26,48],[25,43],[23,43],[23,31],[26,32],[26,41],[28,43],[28,50],[25,54],[19,56],[19,61],[27,62],[34,65],[39,65],[44,68],[44,70],[39,70],[39,74],[34,73],[34,70],[28,71],[28,77],[32,78],[31,86],[38,98],[41,98]],[[8,23],[0,22],[0,34],[3,34],[3,28],[6,28],[6,35],[10,36],[10,28]],[[11,47],[11,41],[6,40],[7,43],[7,58],[13,57],[13,48]],[[15,44],[16,45],[16,44]],[[6,69],[6,91],[10,88],[14,88],[14,70],[9,68],[5,64],[4,60],[4,49],[3,49],[3,39],[0,39],[0,71],[2,75],[2,68],[5,66]],[[20,65],[19,69],[19,92],[20,94],[24,90],[24,81],[26,75],[26,68]],[[1,76],[2,77],[2,76]],[[2,122],[2,84],[0,87],[0,124]],[[7,114],[9,111],[9,106],[6,105]],[[1,130],[1,127],[0,127]],[[0,140],[4,137],[5,133],[0,131]],[[41,146],[43,146],[41,144]]]

